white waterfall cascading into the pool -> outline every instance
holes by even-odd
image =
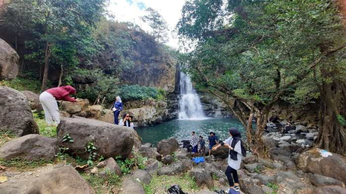
[[[180,72],[179,119],[205,119],[199,99],[189,76]]]

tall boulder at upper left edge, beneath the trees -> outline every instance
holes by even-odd
[[[15,79],[18,75],[19,55],[17,52],[0,39],[0,80]]]

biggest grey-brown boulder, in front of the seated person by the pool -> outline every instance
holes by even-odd
[[[88,158],[85,148],[93,143],[98,156],[114,157],[117,155],[126,158],[133,147],[133,134],[130,127],[119,126],[107,122],[75,116],[64,117],[57,127],[58,140],[62,142],[67,134],[74,142],[62,142],[61,146],[69,148],[73,155]]]

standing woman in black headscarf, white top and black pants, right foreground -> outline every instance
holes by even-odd
[[[246,157],[246,150],[243,141],[241,140],[241,134],[238,129],[236,129],[235,127],[231,127],[229,129],[229,138],[214,147],[213,151],[216,151],[216,149],[221,146],[229,148],[229,155],[227,159],[228,166],[225,171],[229,183],[229,189],[233,189],[239,192],[240,188],[237,170],[240,168],[242,156]],[[231,193],[231,191],[229,191],[228,193]]]

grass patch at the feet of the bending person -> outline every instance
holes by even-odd
[[[46,137],[56,137],[57,131],[55,125],[47,125],[44,120],[44,112],[32,111],[36,124],[39,126],[40,135]]]

